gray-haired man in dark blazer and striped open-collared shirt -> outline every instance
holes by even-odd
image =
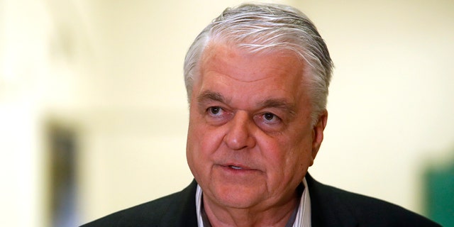
[[[184,62],[194,182],[87,227],[438,226],[307,173],[323,140],[331,70],[323,39],[296,9],[226,9]]]

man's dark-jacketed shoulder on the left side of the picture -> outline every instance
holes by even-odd
[[[181,192],[117,211],[81,227],[178,226],[180,223],[193,223],[196,221],[195,190],[196,182],[192,182]]]

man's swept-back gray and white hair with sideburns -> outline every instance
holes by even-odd
[[[290,50],[309,66],[312,120],[326,109],[333,62],[314,23],[304,13],[279,4],[243,4],[228,8],[196,37],[184,60],[184,83],[190,102],[199,61],[208,43],[223,41],[250,52]],[[301,75],[302,77],[303,75]]]

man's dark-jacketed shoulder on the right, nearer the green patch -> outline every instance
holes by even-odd
[[[439,226],[402,206],[316,182],[309,176],[313,219],[365,226]],[[309,183],[310,182],[310,183]],[[323,220],[322,220],[323,219]]]

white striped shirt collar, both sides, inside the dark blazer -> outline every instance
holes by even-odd
[[[311,226],[311,197],[309,196],[309,187],[307,187],[306,177],[302,181],[304,185],[303,194],[301,194],[301,200],[299,201],[298,211],[295,216],[295,221],[292,227],[308,227]],[[201,206],[201,197],[202,191],[199,184],[197,184],[196,190],[196,215],[197,215],[197,225],[198,227],[207,227],[210,226],[207,222],[207,218],[204,218],[202,215],[202,206]]]

